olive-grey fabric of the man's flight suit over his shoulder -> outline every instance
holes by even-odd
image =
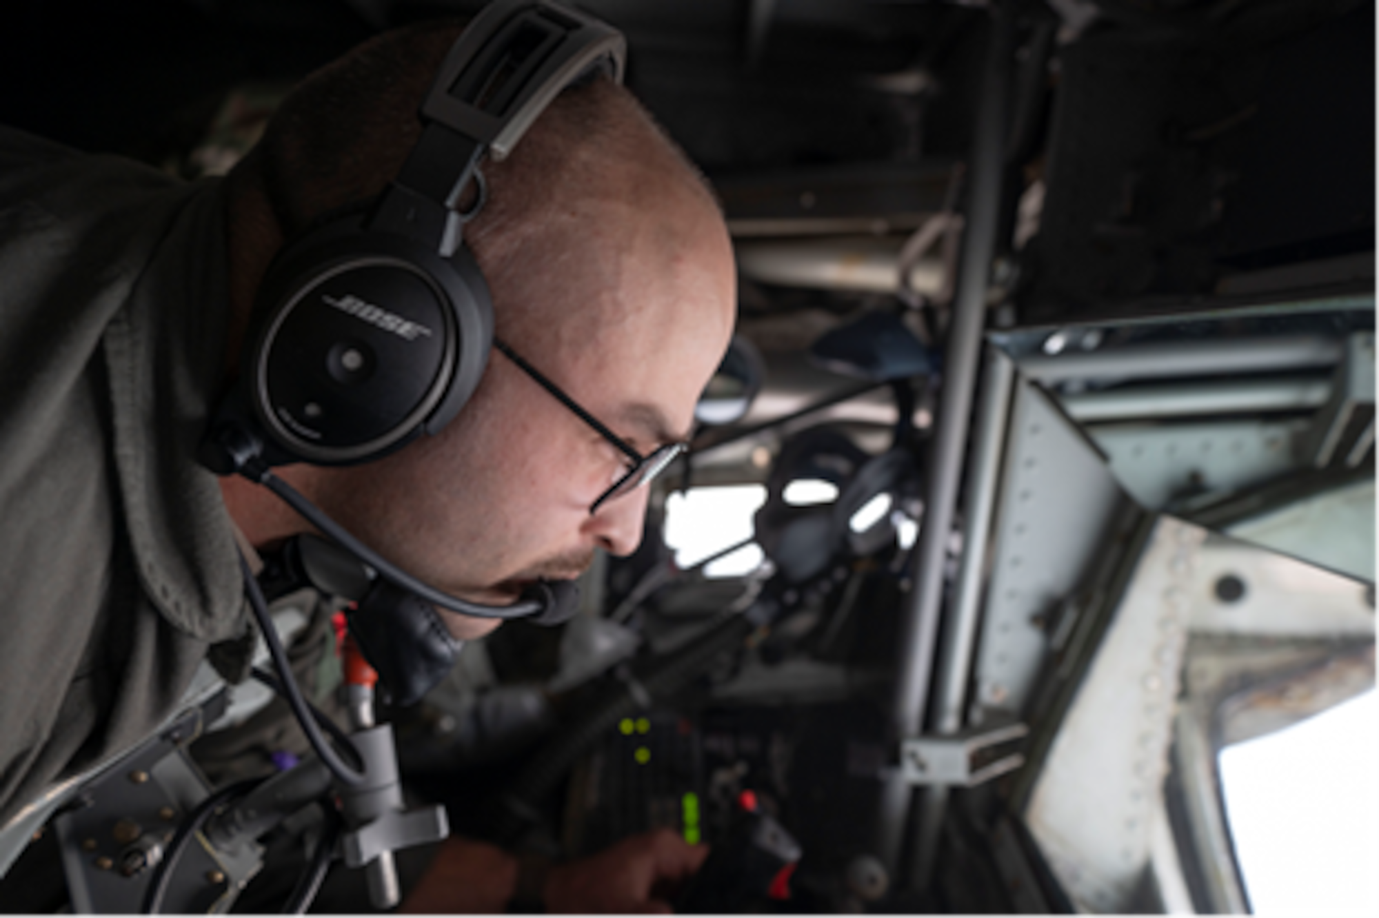
[[[193,460],[225,289],[219,183],[0,128],[0,822],[143,739],[247,630]]]

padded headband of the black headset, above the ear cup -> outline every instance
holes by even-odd
[[[564,7],[499,0],[484,7],[441,63],[422,103],[422,136],[364,222],[450,258],[465,219],[455,208],[487,153],[503,160],[570,84],[594,69],[622,81],[622,33]]]

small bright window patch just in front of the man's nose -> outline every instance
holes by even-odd
[[[676,553],[676,564],[690,568],[712,554],[750,539],[752,516],[765,500],[767,489],[763,485],[691,488],[688,493],[670,495],[666,499],[665,538],[666,544]],[[709,565],[709,569],[734,569],[735,565],[729,564],[734,561],[738,565],[745,564],[745,558],[738,558],[745,550],[718,558]],[[760,549],[757,551],[760,557]],[[709,569],[705,571],[705,576],[736,576],[710,575]]]

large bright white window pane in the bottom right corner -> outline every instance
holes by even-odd
[[[1255,918],[1379,915],[1379,689],[1227,746],[1220,783]]]

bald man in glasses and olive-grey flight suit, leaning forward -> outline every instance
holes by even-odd
[[[234,531],[268,549],[309,527],[197,467],[196,444],[274,254],[397,172],[456,34],[386,34],[314,74],[223,185],[178,187],[0,132],[0,667],[15,686],[0,816],[138,742],[207,653],[243,671]],[[465,237],[498,336],[637,451],[684,438],[734,318],[732,255],[702,182],[607,80],[567,91],[484,171]],[[590,511],[623,463],[495,353],[440,434],[365,466],[279,473],[414,576],[506,604],[597,549],[636,547],[645,489]],[[458,638],[494,627],[443,618]],[[634,839],[556,867],[546,904],[667,914],[652,886],[701,859],[670,834]],[[517,884],[509,855],[452,839],[404,911],[502,914]]]

